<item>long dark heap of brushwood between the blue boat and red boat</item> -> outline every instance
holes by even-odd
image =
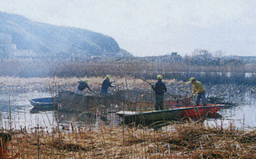
[[[58,109],[71,112],[84,112],[92,110],[154,110],[155,96],[150,91],[141,89],[123,89],[108,95],[79,95],[72,91],[60,91],[56,96],[60,103]],[[168,98],[164,100],[164,107],[189,105],[190,98]]]

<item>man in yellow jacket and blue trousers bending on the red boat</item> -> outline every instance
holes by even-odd
[[[191,97],[193,97],[194,94],[197,94],[196,106],[199,105],[201,99],[202,99],[203,105],[206,106],[205,91],[204,91],[204,86],[202,85],[202,83],[197,81],[194,77],[191,77],[189,79],[189,82],[191,82],[193,84],[193,91],[191,93]]]

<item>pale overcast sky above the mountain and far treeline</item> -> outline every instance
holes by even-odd
[[[256,56],[255,0],[0,0],[0,11],[88,29],[134,56]]]

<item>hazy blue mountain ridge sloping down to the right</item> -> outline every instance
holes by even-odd
[[[1,11],[0,33],[10,34],[12,43],[16,45],[17,49],[33,50],[40,55],[132,56],[129,52],[120,49],[118,43],[110,36],[76,27],[35,22],[22,15]]]

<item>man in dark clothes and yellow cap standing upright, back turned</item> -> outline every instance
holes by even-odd
[[[162,76],[157,75],[157,82],[155,86],[152,84],[152,89],[155,91],[156,94],[156,110],[163,110],[164,109],[164,93],[167,92],[166,86],[164,82],[162,82]]]

